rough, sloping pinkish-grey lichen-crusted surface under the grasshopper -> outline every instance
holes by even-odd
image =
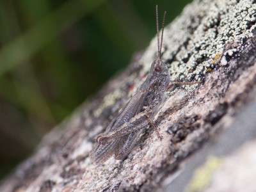
[[[248,103],[256,106],[255,21],[253,0],[186,6],[165,28],[163,61],[172,80],[203,83],[166,93],[154,118],[163,140],[147,129],[120,169],[113,157],[100,165],[88,157],[94,136],[145,80],[157,54],[154,38],[127,70],[45,136],[0,191],[256,191],[247,177],[256,178],[256,131],[248,124],[255,116]],[[234,188],[233,177],[240,186]]]

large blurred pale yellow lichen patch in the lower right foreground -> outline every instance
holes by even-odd
[[[220,167],[222,159],[219,157],[210,156],[206,159],[205,163],[195,170],[188,186],[186,187],[186,192],[197,192],[202,191],[210,182],[211,175]]]

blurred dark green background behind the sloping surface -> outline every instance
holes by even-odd
[[[1,0],[0,179],[188,0]]]

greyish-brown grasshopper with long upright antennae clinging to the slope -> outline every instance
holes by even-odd
[[[154,127],[157,136],[161,138],[152,119],[164,100],[164,92],[173,84],[198,83],[170,81],[167,65],[161,60],[165,15],[166,12],[164,12],[161,44],[159,44],[158,10],[156,6],[157,58],[152,63],[147,79],[138,92],[112,120],[106,131],[95,137],[97,143],[95,143],[90,154],[95,163],[104,163],[113,154],[115,154],[115,159],[124,160],[140,139],[140,135],[145,131],[148,124]]]

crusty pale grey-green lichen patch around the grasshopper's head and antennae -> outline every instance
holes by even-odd
[[[215,67],[212,61],[223,52],[225,44],[252,36],[252,29],[256,27],[256,4],[252,0],[198,0],[192,4],[184,9],[181,17],[166,26],[163,60],[170,62],[172,80],[200,80],[207,68]],[[156,56],[154,47],[157,47],[156,38],[141,60],[146,71]],[[227,61],[223,58],[218,64],[225,66]]]

